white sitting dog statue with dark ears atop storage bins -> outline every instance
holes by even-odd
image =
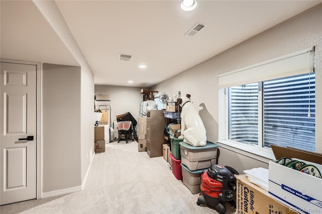
[[[177,100],[181,106],[181,135],[179,138],[192,146],[206,146],[206,129],[194,104],[190,101],[190,94]],[[185,129],[186,128],[186,129]]]

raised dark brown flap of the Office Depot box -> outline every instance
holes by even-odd
[[[289,147],[280,147],[271,145],[271,148],[274,152],[276,160],[288,157],[288,158],[298,158],[301,160],[310,161],[313,163],[322,164],[322,154],[304,151],[300,149],[294,149]]]

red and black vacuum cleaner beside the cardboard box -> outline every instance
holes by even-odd
[[[233,199],[229,183],[235,182],[235,177],[231,171],[223,165],[211,165],[202,173],[200,181],[197,205],[204,204],[226,213],[225,202]]]

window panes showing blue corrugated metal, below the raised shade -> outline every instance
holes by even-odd
[[[228,139],[315,150],[315,74],[228,87]],[[259,114],[260,113],[260,114]]]

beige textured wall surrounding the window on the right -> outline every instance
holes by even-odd
[[[199,109],[199,114],[207,131],[207,140],[218,140],[218,80],[219,74],[243,68],[275,57],[315,46],[316,55],[316,98],[315,125],[316,142],[322,135],[322,4],[317,5],[261,34],[240,43],[164,82],[152,90],[165,90],[168,94],[181,91],[190,93],[191,100]],[[216,41],[213,41],[216,42]],[[229,165],[237,171],[263,166],[263,162],[245,155],[220,148],[219,163]],[[317,147],[316,152],[322,152]],[[264,164],[267,166],[267,164]]]

